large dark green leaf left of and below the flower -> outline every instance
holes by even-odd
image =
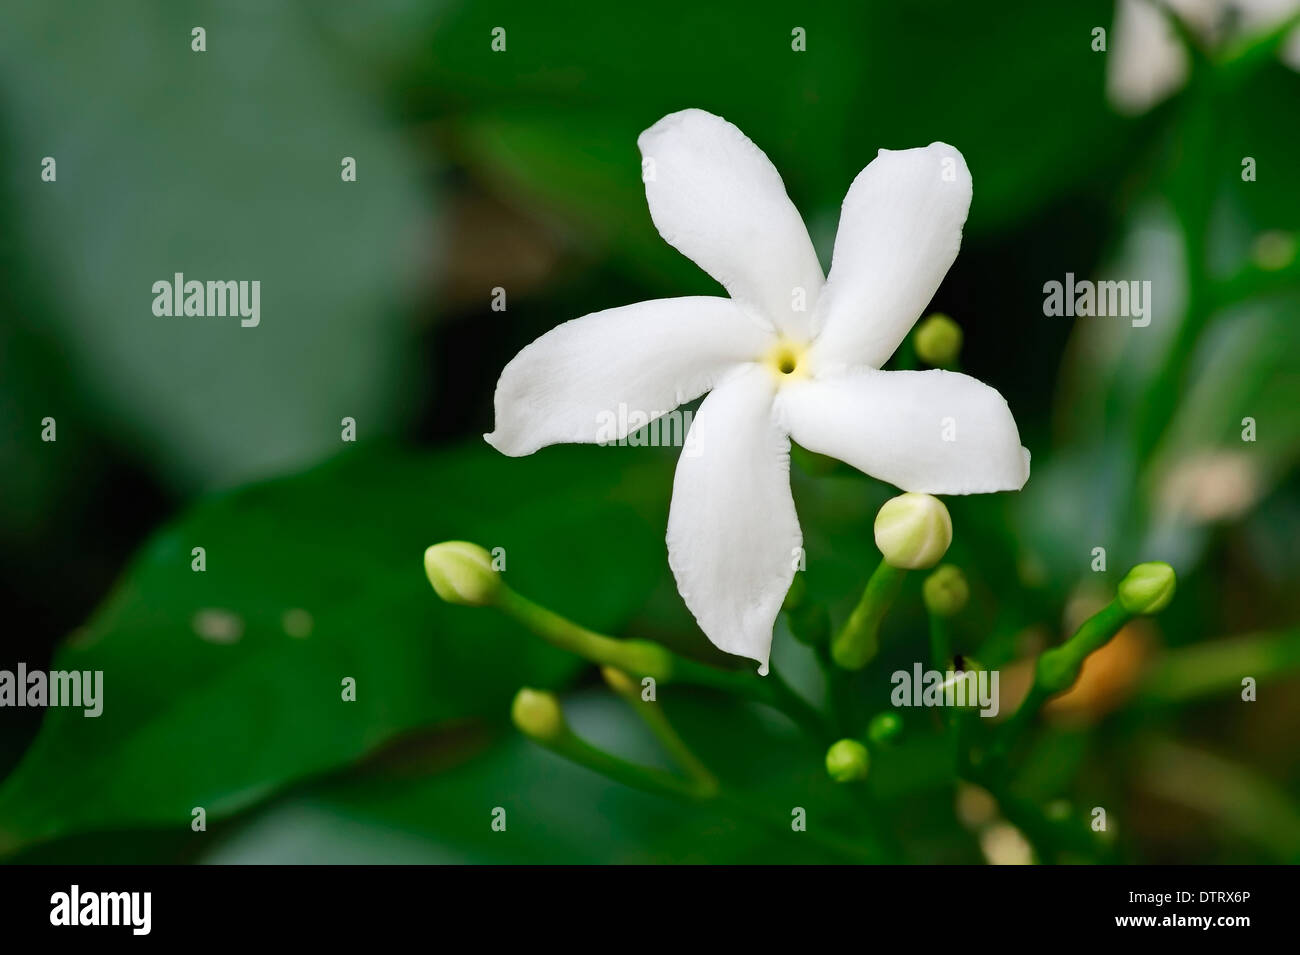
[[[359,451],[200,503],[56,656],[56,669],[103,670],[104,711],[48,711],[0,786],[0,850],[228,813],[400,730],[504,717],[517,686],[556,685],[577,661],[493,611],[442,604],[424,547],[503,547],[521,591],[616,630],[666,569],[667,463]]]

